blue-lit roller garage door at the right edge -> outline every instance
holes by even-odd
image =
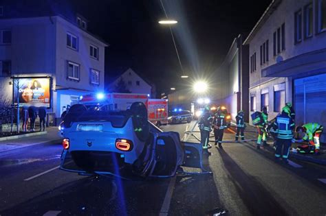
[[[326,126],[326,73],[294,80],[294,108],[296,124],[316,122]],[[326,130],[321,141],[326,143]]]

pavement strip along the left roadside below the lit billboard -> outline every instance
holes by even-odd
[[[19,149],[22,147],[28,147],[30,145],[37,145],[41,143],[47,143],[52,141],[60,141],[60,136],[58,136],[58,128],[50,127],[47,128],[47,133],[39,136],[23,137],[20,139],[13,139],[8,141],[0,141],[0,153],[7,152],[12,149]]]

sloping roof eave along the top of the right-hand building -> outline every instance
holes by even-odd
[[[263,15],[259,19],[259,21],[254,25],[254,28],[251,30],[250,34],[246,38],[246,40],[243,42],[243,45],[248,45],[252,38],[257,34],[259,29],[263,26],[263,24],[270,18],[270,15],[276,10],[276,8],[279,6],[282,0],[272,0],[272,3],[268,5],[268,8],[263,12]]]

